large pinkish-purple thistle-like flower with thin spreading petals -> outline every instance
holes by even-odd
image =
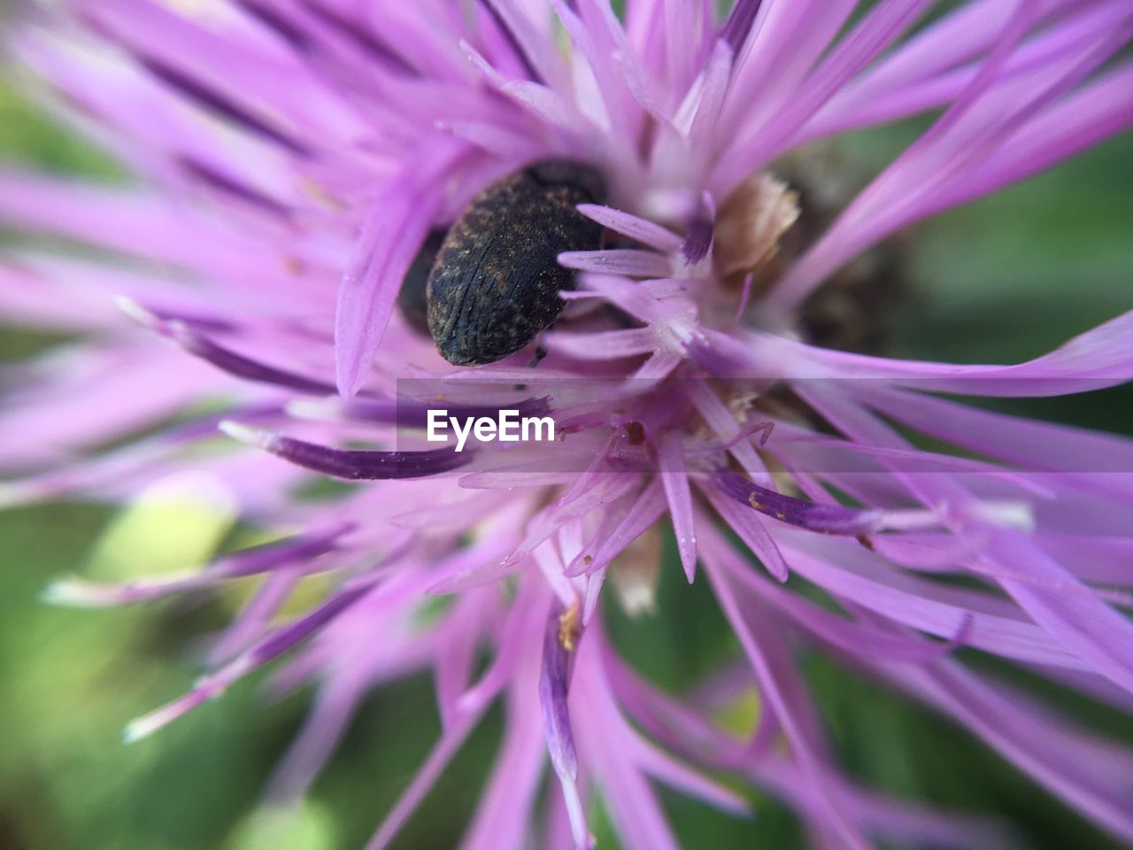
[[[281,534],[190,575],[51,588],[105,605],[262,578],[197,686],[128,738],[286,658],[282,687],[320,688],[270,787],[288,802],[367,691],[429,671],[441,738],[373,848],[497,700],[506,731],[469,850],[589,847],[599,798],[625,847],[676,847],[656,783],[740,813],[735,789],[761,787],[823,847],[1002,847],[986,824],[881,801],[840,774],[792,658],[810,646],[966,726],[1133,842],[1131,754],[954,654],[1128,706],[1133,624],[1115,606],[1130,603],[1133,444],[932,394],[1124,382],[1133,314],[1013,366],[837,350],[808,324],[824,284],[886,236],[1126,127],[1133,10],[973,0],[930,19],[923,0],[852,17],[857,6],[28,10],[12,51],[138,180],[0,173],[6,224],[97,248],[7,250],[3,316],[82,339],[11,375],[0,459],[22,477],[5,501],[128,501],[193,468]],[[792,152],[921,113],[929,128],[792,247],[820,193],[789,182],[786,158],[806,170]],[[454,368],[398,311],[403,280],[487,187],[564,160],[607,184],[577,206],[603,244],[559,255],[574,288],[537,341]],[[428,447],[438,399],[550,414],[556,441]],[[324,476],[365,483],[301,498]],[[598,605],[607,577],[629,607],[653,603],[668,525],[742,648],[693,695],[631,669]],[[280,622],[314,573],[333,589]],[[801,580],[834,604],[795,593]],[[438,595],[449,604],[423,619]],[[761,712],[738,741],[714,711],[752,686]]]

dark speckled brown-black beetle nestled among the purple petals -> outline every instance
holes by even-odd
[[[602,175],[566,160],[536,162],[477,195],[452,226],[428,278],[428,329],[449,363],[494,363],[562,313],[574,273],[564,250],[600,247],[602,226],[574,207],[605,201]]]

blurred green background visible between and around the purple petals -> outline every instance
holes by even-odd
[[[845,153],[876,169],[915,129],[864,134],[850,139]],[[112,164],[29,108],[9,84],[0,84],[0,158],[116,176]],[[1115,139],[915,228],[904,241],[914,289],[894,350],[1015,360],[1133,306],[1131,168],[1133,139]],[[6,329],[0,357],[23,357],[53,341]],[[1014,409],[1128,433],[1133,394],[1122,389]],[[250,677],[151,739],[123,746],[130,719],[190,686],[199,672],[194,641],[222,626],[236,600],[74,611],[39,597],[62,573],[110,578],[191,567],[240,537],[231,517],[191,501],[172,499],[147,510],[51,504],[0,512],[0,849],[360,847],[437,732],[431,682],[372,696],[309,802],[280,823],[254,813],[303,719],[307,691],[271,702],[262,679]],[[672,558],[657,615],[630,622],[616,606],[610,615],[616,643],[668,688],[691,683],[735,652],[704,583],[689,590]],[[1003,815],[1034,847],[1116,847],[963,731],[819,657],[806,658],[804,666],[853,775],[902,798]],[[1131,719],[1048,692],[1066,712],[1133,743]],[[455,847],[499,739],[499,720],[492,715],[474,736],[398,847]],[[663,797],[688,848],[801,847],[793,817],[773,800],[756,798],[757,816],[742,821]],[[599,847],[617,845],[607,824],[597,832]]]

